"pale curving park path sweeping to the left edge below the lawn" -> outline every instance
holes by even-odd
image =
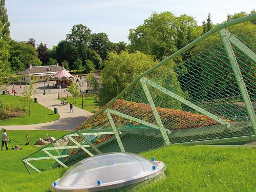
[[[35,98],[37,98],[38,103],[46,106],[50,110],[54,111],[54,108],[57,108],[60,118],[47,123],[0,126],[0,129],[73,131],[79,124],[93,115],[93,113],[77,108],[76,106],[73,106],[73,113],[70,113],[70,106],[61,104],[61,101],[57,99],[57,93],[47,95],[36,94]]]

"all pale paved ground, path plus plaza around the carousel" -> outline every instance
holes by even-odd
[[[46,108],[54,111],[54,108],[58,109],[58,114],[60,118],[56,121],[40,123],[40,124],[30,124],[30,125],[8,125],[0,126],[0,129],[5,128],[7,130],[62,130],[62,131],[73,131],[79,124],[85,121],[88,117],[92,116],[93,113],[82,110],[73,106],[73,113],[70,113],[70,106],[61,104],[58,100],[58,93],[60,97],[70,96],[66,89],[57,90],[53,88],[55,81],[50,81],[45,83],[46,95],[44,93],[44,83],[35,83],[36,95],[38,103],[44,105]],[[86,90],[86,82],[84,82],[82,91]],[[47,86],[49,84],[49,87]],[[7,89],[11,92],[13,86],[9,86]],[[22,96],[23,89],[19,86],[14,86],[17,95]]]

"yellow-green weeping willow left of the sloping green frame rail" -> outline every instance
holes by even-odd
[[[120,54],[110,52],[101,71],[102,89],[99,92],[99,105],[104,105],[117,96],[139,74],[156,64],[153,56],[136,52]]]

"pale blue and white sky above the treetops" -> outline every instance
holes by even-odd
[[[66,39],[72,26],[86,25],[92,33],[104,32],[113,42],[124,41],[129,29],[143,24],[152,12],[187,14],[201,25],[208,12],[214,24],[227,14],[256,9],[255,0],[6,0],[11,37],[17,41],[36,39],[48,48]]]

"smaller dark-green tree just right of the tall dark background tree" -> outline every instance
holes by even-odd
[[[94,33],[92,34],[91,49],[96,51],[102,60],[108,56],[108,53],[112,49],[111,42],[108,35],[105,33]]]

